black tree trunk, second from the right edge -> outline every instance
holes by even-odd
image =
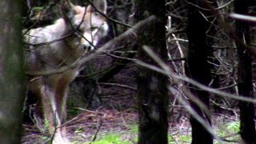
[[[208,86],[212,79],[210,74],[210,58],[212,52],[209,38],[206,37],[206,30],[209,29],[210,22],[204,18],[210,18],[210,12],[202,10],[199,7],[208,7],[206,2],[202,0],[190,1],[188,11],[188,27],[187,37],[189,39],[187,60],[186,60],[186,75],[193,78],[195,81]],[[209,9],[209,8],[207,8]],[[212,20],[213,18],[210,18]],[[210,30],[214,32],[214,30]],[[210,109],[209,93],[199,90],[198,87],[190,85],[190,90],[202,103]],[[201,116],[206,122],[211,124],[210,115],[207,115],[197,104],[190,100],[190,105],[198,115]],[[200,122],[198,122],[193,115],[190,116],[190,124],[192,127],[192,144],[213,143],[212,135],[205,129]]]

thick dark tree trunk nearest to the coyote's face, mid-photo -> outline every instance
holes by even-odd
[[[146,14],[157,17],[154,24],[146,27],[144,34],[138,35],[138,59],[151,65],[157,65],[142,50],[142,45],[149,46],[156,55],[166,61],[166,11],[165,1],[138,0],[134,18],[141,21],[148,17]],[[138,110],[139,110],[139,144],[164,144],[167,143],[167,78],[153,70],[138,66]]]

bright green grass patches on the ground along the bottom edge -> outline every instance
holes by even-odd
[[[218,137],[222,138],[229,134],[238,133],[240,127],[240,122],[229,122],[223,125],[218,126],[216,133]],[[82,129],[76,130],[76,133],[82,133]],[[175,138],[175,139],[174,139]],[[239,139],[239,135],[232,136],[227,138],[229,140]],[[131,124],[128,126],[128,130],[125,131],[110,131],[108,134],[98,134],[98,138],[92,142],[93,144],[133,144],[138,141],[138,125]],[[176,142],[181,144],[190,143],[192,141],[190,133],[188,134],[175,134],[168,135],[168,142],[170,144],[175,144]],[[73,144],[78,144],[79,142],[73,142]],[[80,142],[81,143],[81,142]],[[88,144],[90,142],[84,142],[83,144]],[[226,143],[226,142],[217,142],[214,144]],[[229,144],[232,142],[229,142]]]

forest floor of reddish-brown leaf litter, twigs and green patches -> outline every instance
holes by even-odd
[[[77,115],[69,115],[66,122],[67,137],[72,143],[92,141],[95,144],[136,143],[138,138],[136,90],[122,86],[136,86],[134,69],[131,70],[130,66],[128,67],[129,70],[122,70],[109,81],[119,85],[99,85],[102,106],[94,110],[85,110],[82,107],[70,108],[78,111]],[[180,106],[170,106],[169,111],[169,143],[190,143],[191,127],[186,110]],[[212,118],[214,130],[218,136],[227,138],[226,140],[229,141],[227,143],[239,143],[233,142],[234,139],[238,139],[236,132],[239,123],[236,112],[225,111],[228,110],[214,112]],[[25,131],[22,138],[23,144],[44,143],[49,139],[34,124],[24,124],[23,127]],[[226,135],[230,135],[230,138],[225,137]]]

